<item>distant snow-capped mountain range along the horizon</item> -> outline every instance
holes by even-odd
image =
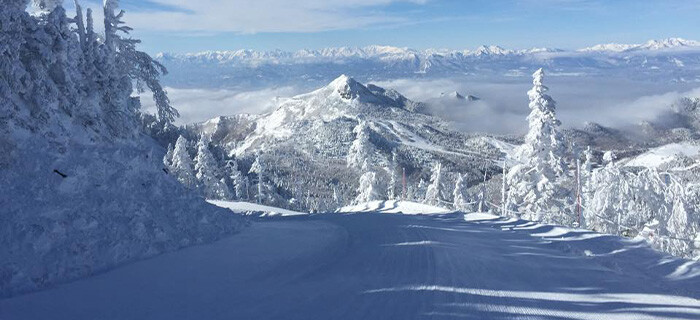
[[[650,81],[700,81],[700,42],[681,38],[643,44],[599,44],[579,50],[414,50],[389,46],[289,51],[207,51],[157,55],[176,87],[265,87],[327,83],[339,74],[362,80],[399,77],[523,77],[545,67],[553,76],[623,76]]]

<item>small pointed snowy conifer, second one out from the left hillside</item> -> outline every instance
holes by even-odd
[[[205,198],[228,199],[231,197],[231,192],[220,172],[216,159],[209,151],[209,143],[204,135],[197,143],[194,169],[199,190]]]

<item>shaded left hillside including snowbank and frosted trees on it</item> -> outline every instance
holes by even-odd
[[[105,35],[91,11],[59,1],[3,1],[0,10],[0,297],[43,289],[135,260],[220,239],[245,221],[183,187],[146,133],[177,115],[161,65],[121,31],[105,1]],[[155,92],[139,111],[135,84]],[[0,316],[5,318],[5,316]]]

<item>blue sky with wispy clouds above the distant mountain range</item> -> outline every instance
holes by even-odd
[[[371,44],[574,49],[668,37],[700,40],[700,0],[122,0],[121,5],[150,53]]]

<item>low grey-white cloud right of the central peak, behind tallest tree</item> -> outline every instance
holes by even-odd
[[[409,99],[424,101],[431,111],[451,121],[459,130],[501,134],[522,134],[527,130],[529,113],[528,77],[515,79],[437,80],[399,79],[378,82],[393,88]],[[670,105],[681,97],[700,96],[697,84],[660,84],[590,77],[554,77],[545,79],[550,94],[557,101],[557,116],[564,127],[581,127],[585,122],[624,128],[641,121],[653,121],[669,112]],[[441,99],[440,93],[458,91],[475,95],[481,101],[466,102]]]

